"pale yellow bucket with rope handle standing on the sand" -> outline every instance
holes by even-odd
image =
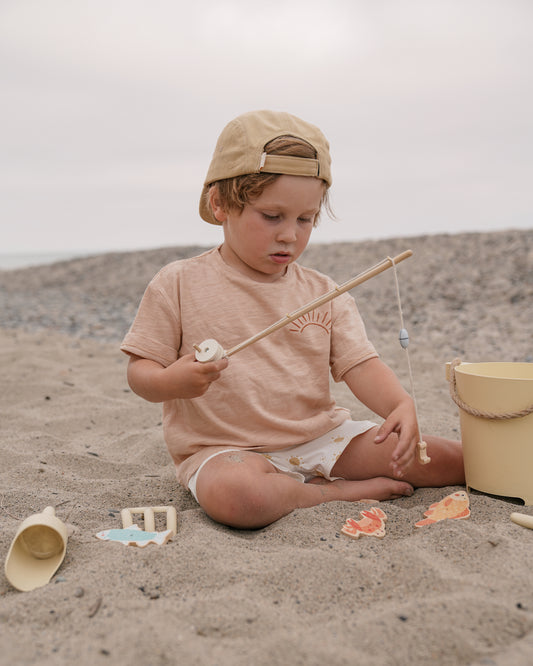
[[[467,488],[533,504],[533,363],[455,363]]]

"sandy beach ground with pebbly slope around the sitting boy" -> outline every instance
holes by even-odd
[[[302,262],[344,281],[412,248],[398,267],[420,420],[459,436],[444,365],[533,361],[533,233],[310,246]],[[533,531],[519,500],[470,492],[468,520],[414,524],[461,489],[381,502],[387,534],[352,540],[332,502],[257,531],[210,520],[175,481],[160,407],[135,396],[119,341],[165,248],[0,272],[0,553],[45,506],[70,527],[65,560],[32,592],[0,577],[5,664],[533,663]],[[407,384],[391,271],[354,291],[370,337]],[[210,336],[206,336],[210,337]],[[216,336],[213,336],[216,337]],[[342,385],[355,418],[368,412]],[[95,538],[120,510],[171,505],[158,547]]]

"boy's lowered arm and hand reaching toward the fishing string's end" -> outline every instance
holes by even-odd
[[[411,396],[394,372],[378,358],[356,365],[343,379],[358,400],[385,419],[378,430],[376,444],[393,432],[398,435],[392,461],[394,471],[401,476],[403,468],[413,460],[420,440]]]

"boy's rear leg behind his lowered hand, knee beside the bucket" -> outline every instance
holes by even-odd
[[[376,476],[390,476],[392,453],[398,442],[397,435],[390,435],[384,442],[376,444],[374,437],[377,428],[372,428],[354,437],[331,470],[331,476],[343,479],[370,479]],[[404,470],[401,477],[415,488],[463,485],[465,473],[461,442],[442,437],[424,435],[427,454],[431,462],[422,465],[418,459]]]

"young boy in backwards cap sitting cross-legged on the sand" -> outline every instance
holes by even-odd
[[[413,402],[378,358],[349,293],[231,359],[195,359],[206,338],[229,349],[334,288],[296,263],[330,185],[329,145],[315,126],[273,111],[229,123],[200,200],[224,242],[156,275],[121,346],[133,391],[163,403],[179,482],[230,526],[464,483],[459,442],[426,436],[431,462],[416,460]],[[380,427],[335,404],[330,371],[384,419]]]

